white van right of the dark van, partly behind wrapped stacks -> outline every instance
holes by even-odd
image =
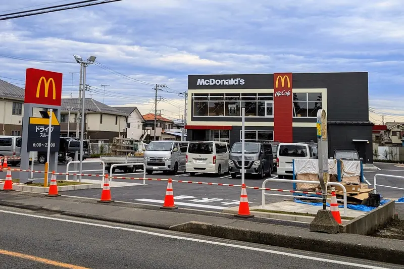
[[[280,179],[293,176],[293,159],[313,158],[313,149],[306,143],[280,143],[276,159]]]

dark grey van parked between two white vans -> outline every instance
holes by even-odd
[[[242,143],[234,143],[229,158],[229,172],[232,178],[242,172]],[[244,173],[258,175],[263,179],[271,176],[274,157],[272,145],[268,143],[247,142],[244,144]]]

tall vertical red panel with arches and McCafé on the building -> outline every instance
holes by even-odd
[[[293,142],[292,73],[274,73],[274,140]]]

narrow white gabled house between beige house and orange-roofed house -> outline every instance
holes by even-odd
[[[143,135],[143,123],[145,120],[136,106],[113,106],[115,109],[129,115],[126,123],[127,138],[141,139]]]

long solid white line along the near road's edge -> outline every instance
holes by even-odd
[[[107,229],[116,229],[116,230],[139,233],[139,234],[147,234],[147,235],[154,235],[154,236],[160,236],[160,237],[165,237],[165,238],[173,238],[173,239],[178,239],[178,240],[185,240],[185,241],[192,241],[192,242],[205,243],[205,244],[211,244],[211,245],[219,245],[219,246],[247,249],[247,250],[252,250],[252,251],[260,251],[260,252],[266,252],[266,253],[271,253],[271,254],[276,254],[276,255],[284,255],[284,256],[289,256],[289,257],[294,257],[294,258],[316,260],[316,261],[322,261],[322,262],[328,262],[328,263],[334,263],[334,264],[355,266],[355,267],[360,267],[360,268],[389,269],[389,268],[373,266],[373,265],[365,265],[365,264],[359,264],[359,263],[353,263],[353,262],[347,262],[347,261],[331,260],[331,259],[326,259],[326,258],[305,256],[305,255],[300,255],[300,254],[294,254],[294,253],[288,253],[288,252],[282,252],[282,251],[276,251],[276,250],[270,250],[270,249],[264,249],[264,248],[258,248],[258,247],[235,245],[235,244],[222,243],[222,242],[216,242],[216,241],[209,241],[209,240],[197,239],[197,238],[189,238],[189,237],[183,237],[183,236],[177,236],[177,235],[160,234],[160,233],[156,233],[156,232],[142,231],[142,230],[136,230],[136,229],[131,229],[131,228],[106,225],[106,224],[97,224],[97,223],[80,222],[80,221],[73,221],[73,220],[66,220],[66,219],[58,219],[58,218],[53,218],[53,217],[38,216],[38,215],[32,215],[32,214],[20,213],[20,212],[13,212],[13,211],[6,211],[6,210],[0,210],[0,212],[9,213],[9,214],[15,214],[15,215],[19,215],[19,216],[32,217],[32,218],[37,218],[37,219],[45,219],[45,220],[53,220],[53,221],[60,221],[60,222],[67,222],[67,223],[74,223],[74,224],[82,224],[82,225],[88,225],[88,226],[94,226],[94,227],[103,227],[103,228],[107,228]]]

